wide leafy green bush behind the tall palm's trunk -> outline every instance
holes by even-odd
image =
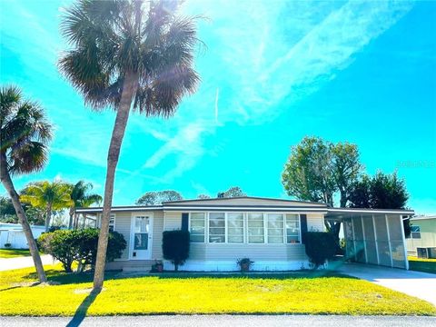
[[[43,233],[38,238],[38,246],[61,262],[65,272],[72,272],[72,264],[79,263],[78,270],[90,264],[94,267],[97,256],[99,230],[86,228],[83,230],[58,230],[53,233]],[[119,258],[126,247],[124,236],[110,232],[107,244],[106,260],[108,262]]]

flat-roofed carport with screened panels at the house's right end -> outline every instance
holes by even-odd
[[[346,257],[355,263],[409,269],[403,219],[409,210],[331,208],[328,221],[343,223]]]

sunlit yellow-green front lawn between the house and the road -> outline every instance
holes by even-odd
[[[302,313],[436,315],[428,302],[347,276],[304,273],[193,275],[163,273],[120,278],[89,294],[91,274],[46,266],[59,285],[33,285],[33,268],[0,272],[0,315],[72,316],[163,313]]]

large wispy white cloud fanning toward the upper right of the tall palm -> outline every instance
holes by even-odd
[[[220,104],[220,122],[262,124],[280,114],[274,110],[286,96],[292,102],[316,92],[335,78],[373,39],[394,25],[411,10],[410,1],[401,2],[194,2],[196,12],[209,16],[213,36],[219,38],[219,48],[213,58],[223,62],[225,72],[205,67],[204,92],[211,93],[216,76],[231,81],[233,94],[226,92],[230,105]],[[242,15],[243,13],[243,15]],[[235,22],[241,28],[235,28]],[[207,26],[206,26],[207,27]],[[214,40],[214,42],[217,42]],[[212,72],[212,73],[211,73]],[[219,92],[215,88],[215,122],[218,116]],[[197,94],[199,107],[201,95]],[[186,114],[183,112],[183,114]],[[173,181],[192,169],[205,154],[202,138],[214,129],[203,125],[200,116],[180,130],[144,164],[154,168],[164,158],[174,154],[177,167],[163,176]],[[191,119],[192,115],[185,118]],[[163,140],[158,134],[156,138]]]

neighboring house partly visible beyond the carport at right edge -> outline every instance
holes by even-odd
[[[411,218],[411,236],[407,239],[407,252],[417,255],[416,248],[436,247],[436,215]]]

